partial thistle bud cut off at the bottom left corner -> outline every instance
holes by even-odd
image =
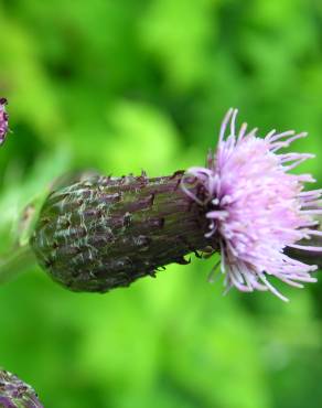
[[[30,385],[2,369],[0,369],[0,407],[43,408]]]

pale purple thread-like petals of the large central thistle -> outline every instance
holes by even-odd
[[[316,281],[311,276],[316,266],[285,253],[286,248],[322,251],[322,247],[302,245],[303,239],[322,236],[313,218],[322,214],[319,201],[322,190],[304,192],[304,183],[315,180],[310,174],[289,173],[314,155],[277,154],[292,141],[304,138],[305,132],[272,130],[259,138],[257,129],[247,132],[247,124],[237,131],[236,116],[237,109],[228,110],[216,153],[208,154],[205,168],[189,169],[182,187],[206,208],[210,228],[206,237],[219,243],[226,291],[232,287],[246,292],[268,289],[287,301],[268,281],[268,275],[297,288],[302,288],[300,282]],[[189,187],[191,176],[203,191],[204,200]]]

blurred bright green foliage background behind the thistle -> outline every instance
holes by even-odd
[[[204,163],[228,107],[322,181],[322,2],[0,0],[0,248],[69,170],[165,175]],[[193,257],[110,293],[34,267],[0,288],[0,365],[55,408],[318,408],[322,286],[222,297]]]

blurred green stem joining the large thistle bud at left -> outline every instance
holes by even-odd
[[[0,284],[20,275],[35,264],[35,256],[30,245],[24,245],[0,257]]]

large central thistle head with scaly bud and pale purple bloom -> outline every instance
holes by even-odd
[[[294,287],[315,281],[316,266],[294,253],[322,264],[313,219],[322,190],[304,192],[312,176],[289,173],[313,155],[277,153],[307,133],[258,138],[246,124],[236,133],[236,116],[225,117],[205,168],[154,179],[98,175],[53,191],[31,238],[43,268],[71,290],[105,292],[186,264],[190,253],[221,251],[227,290],[269,289],[286,300],[268,275]],[[312,237],[320,241],[302,244]]]

